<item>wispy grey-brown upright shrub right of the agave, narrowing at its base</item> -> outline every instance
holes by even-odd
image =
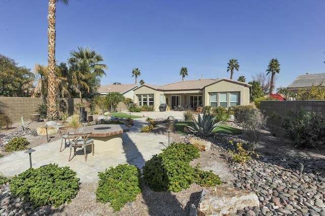
[[[258,147],[262,130],[266,126],[267,118],[258,110],[249,110],[242,113],[243,134],[247,138],[252,150]]]

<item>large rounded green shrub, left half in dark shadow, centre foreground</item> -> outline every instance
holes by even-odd
[[[198,149],[185,143],[172,143],[163,153],[146,162],[144,179],[154,191],[179,192],[189,188],[194,182],[195,171],[188,160],[193,157],[200,157]]]

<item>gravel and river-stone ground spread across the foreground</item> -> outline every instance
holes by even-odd
[[[237,127],[235,123],[229,124]],[[166,133],[163,126],[160,128],[153,133]],[[187,141],[189,138],[171,133],[172,141]],[[44,137],[29,135],[27,139],[31,140],[31,145],[44,143]],[[201,152],[201,157],[191,164],[200,163],[202,169],[212,169],[224,184],[254,191],[260,200],[259,207],[242,209],[238,215],[325,215],[324,150],[297,150],[287,139],[272,137],[265,131],[257,149],[261,157],[238,164],[230,160],[227,150],[231,148],[231,140],[244,142],[242,135],[217,134],[209,140],[212,151]],[[299,163],[304,165],[303,172],[299,171]],[[28,203],[10,195],[9,186],[5,185],[0,191],[0,215],[23,215],[24,212],[25,215],[188,215],[190,204],[200,197],[202,190],[202,187],[192,184],[189,189],[178,193],[153,192],[143,183],[142,194],[136,201],[126,204],[119,212],[113,212],[108,204],[95,202],[96,187],[96,183],[82,183],[72,203],[58,208],[43,206],[32,209]],[[15,214],[19,211],[20,214]]]

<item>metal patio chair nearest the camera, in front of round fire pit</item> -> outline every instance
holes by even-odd
[[[85,156],[85,161],[87,161],[87,151],[86,147],[91,145],[91,153],[93,155],[93,139],[88,138],[91,133],[68,133],[69,145],[70,145],[70,155],[69,160],[71,160],[71,152],[73,148],[74,156],[76,156],[77,148],[83,148],[83,154]]]

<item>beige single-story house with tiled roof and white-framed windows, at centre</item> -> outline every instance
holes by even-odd
[[[196,108],[229,107],[249,105],[251,85],[230,79],[201,79],[170,83],[162,86],[141,85],[134,90],[134,103],[153,105],[159,111],[159,105],[166,103],[172,110],[175,106]]]

